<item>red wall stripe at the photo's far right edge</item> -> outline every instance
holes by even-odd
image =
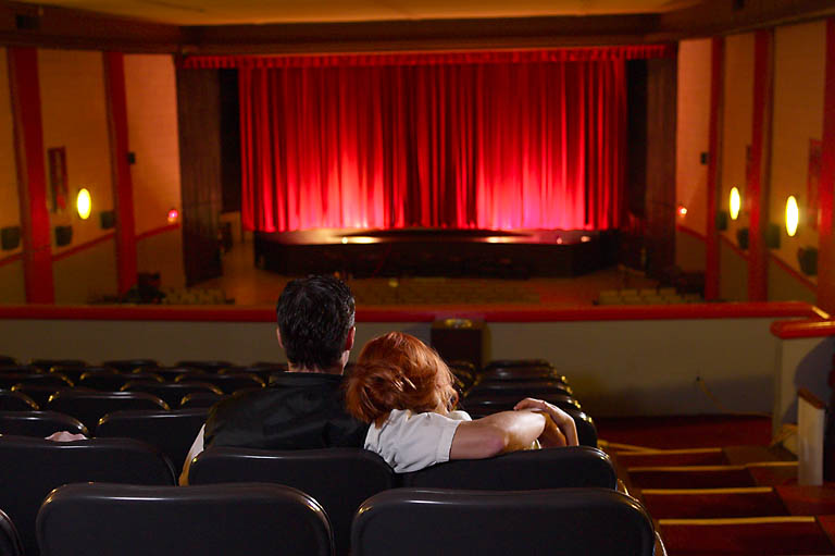
[[[818,304],[835,312],[835,17],[826,21],[826,77],[823,92],[820,220],[818,221]]]

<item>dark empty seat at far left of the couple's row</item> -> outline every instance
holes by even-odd
[[[162,453],[132,438],[51,442],[2,435],[0,461],[0,508],[17,526],[27,556],[38,554],[35,516],[57,486],[86,481],[174,484],[171,462]]]

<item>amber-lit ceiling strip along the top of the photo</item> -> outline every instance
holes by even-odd
[[[532,17],[665,12],[699,0],[22,0],[173,25]]]

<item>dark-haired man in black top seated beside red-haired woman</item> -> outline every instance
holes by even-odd
[[[289,372],[266,388],[216,404],[186,458],[203,446],[262,449],[362,447],[369,425],[345,410],[341,374],[353,347],[351,291],[332,276],[294,280],[276,304],[278,344]]]

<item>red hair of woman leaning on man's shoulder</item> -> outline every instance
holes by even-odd
[[[378,336],[362,348],[348,378],[348,412],[379,425],[392,409],[414,412],[452,409],[458,393],[449,367],[416,337],[402,332]]]

